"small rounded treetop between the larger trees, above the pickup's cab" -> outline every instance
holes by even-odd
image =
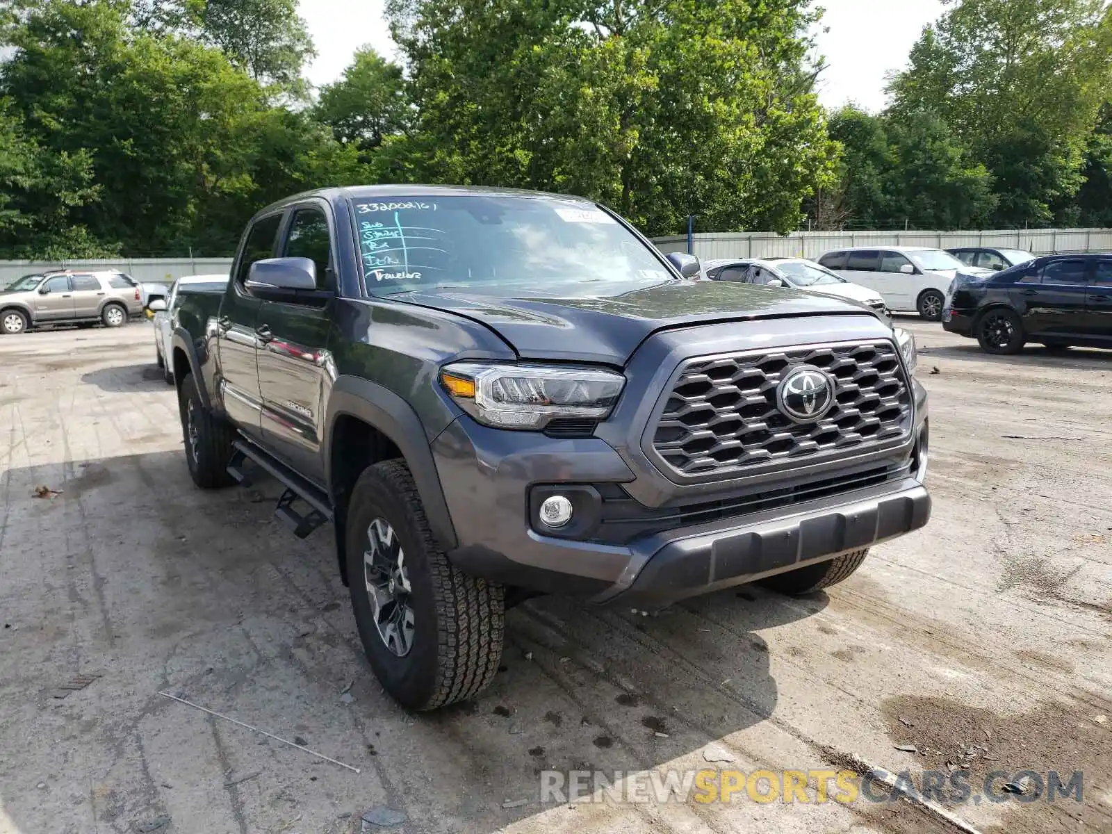
[[[344,77],[321,88],[316,118],[341,142],[361,150],[377,148],[409,123],[401,68],[370,47],[357,50]]]

